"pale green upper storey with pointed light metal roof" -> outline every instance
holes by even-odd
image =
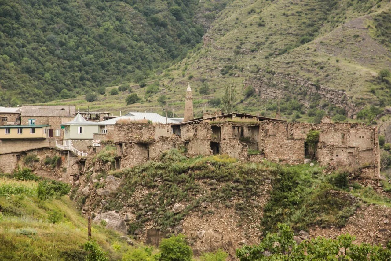
[[[64,129],[64,140],[93,140],[95,133],[106,133],[106,124],[87,121],[77,113],[72,121],[61,124],[61,129]]]

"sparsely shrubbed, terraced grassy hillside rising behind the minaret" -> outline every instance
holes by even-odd
[[[146,87],[134,82],[131,90],[141,101],[126,105],[129,94],[119,92],[99,96],[86,102],[84,96],[61,100],[81,108],[124,111],[162,112],[169,101],[170,110],[183,115],[184,96],[190,82],[196,116],[221,105],[224,86],[237,86],[237,111],[274,116],[276,100],[264,101],[244,82],[253,77],[267,80],[269,87],[286,84],[285,98],[280,101],[282,114],[288,120],[318,121],[324,113],[344,120],[343,108],[336,108],[320,96],[307,94],[290,85],[276,73],[346,91],[346,99],[358,108],[365,105],[384,107],[391,104],[390,79],[379,72],[391,66],[390,11],[388,1],[233,1],[222,10],[197,46],[175,65],[149,77]],[[149,85],[157,86],[145,95]],[[201,87],[208,85],[209,91]],[[308,100],[310,106],[297,104]],[[320,111],[319,111],[320,109]]]

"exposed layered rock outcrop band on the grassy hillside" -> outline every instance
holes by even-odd
[[[359,108],[348,101],[346,92],[317,85],[307,80],[285,74],[263,74],[244,81],[245,86],[253,86],[262,99],[282,99],[287,95],[296,95],[297,100],[307,108],[311,98],[319,96],[330,104],[344,108],[349,118],[355,118]]]

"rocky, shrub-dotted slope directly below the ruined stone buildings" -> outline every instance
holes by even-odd
[[[195,253],[222,248],[234,257],[240,245],[257,243],[279,222],[289,224],[298,241],[345,232],[358,242],[391,239],[390,185],[362,179],[359,170],[327,174],[312,164],[185,158],[175,150],[131,169],[92,162],[74,181],[71,197],[98,222],[114,215],[123,222],[118,230],[127,228],[147,244],[185,234]]]

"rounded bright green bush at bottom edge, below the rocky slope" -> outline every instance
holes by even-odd
[[[183,235],[162,239],[159,250],[160,261],[190,261],[193,255]]]

